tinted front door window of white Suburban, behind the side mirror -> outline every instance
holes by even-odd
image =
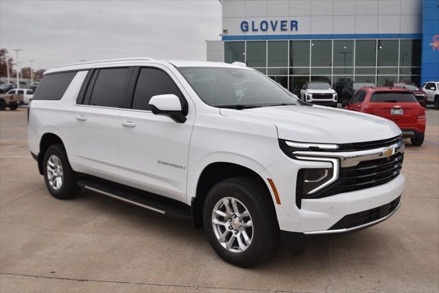
[[[148,105],[154,95],[176,95],[185,108],[186,100],[174,80],[163,70],[156,68],[142,68],[137,78],[136,89],[132,108],[138,110],[150,110]]]

